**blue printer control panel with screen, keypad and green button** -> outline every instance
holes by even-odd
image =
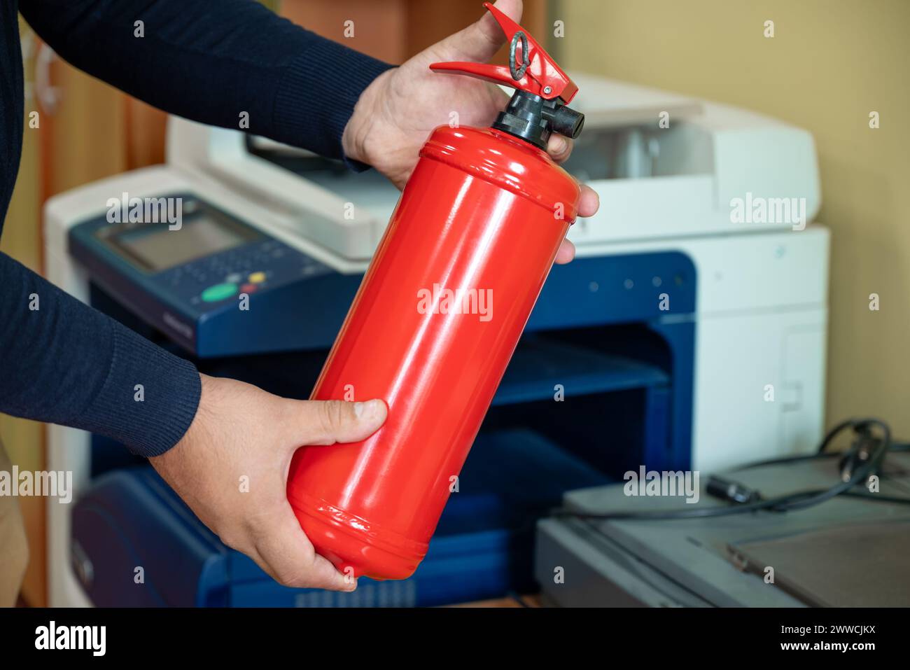
[[[307,317],[343,319],[347,305],[324,296],[353,295],[359,277],[192,194],[155,199],[164,198],[179,203],[170,206],[179,219],[147,221],[143,211],[140,220],[112,223],[105,214],[70,230],[70,253],[121,304],[199,358],[306,349],[334,337]],[[301,295],[313,304],[301,304]]]

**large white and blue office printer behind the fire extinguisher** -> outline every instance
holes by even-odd
[[[567,168],[602,210],[573,226],[578,258],[552,270],[410,580],[362,580],[356,594],[280,587],[147,464],[51,426],[48,467],[74,472],[76,491],[47,510],[51,604],[445,604],[527,591],[534,522],[564,492],[642,463],[711,471],[817,442],[828,242],[805,225],[820,201],[812,137],[683,96],[579,85],[588,122]],[[111,198],[179,200],[182,227],[112,224]],[[48,201],[46,266],[200,371],[306,398],[397,198],[374,172],[171,118],[166,165]],[[784,211],[784,199],[799,205]]]

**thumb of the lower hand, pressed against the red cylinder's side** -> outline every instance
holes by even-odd
[[[389,411],[380,400],[366,402],[300,401],[305,444],[360,442],[379,430]]]

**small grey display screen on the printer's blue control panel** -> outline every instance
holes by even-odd
[[[177,230],[167,225],[140,225],[113,236],[111,241],[130,259],[158,271],[239,247],[247,239],[240,230],[203,215],[184,221]]]

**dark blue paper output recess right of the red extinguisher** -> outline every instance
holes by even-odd
[[[672,357],[642,325],[527,334],[481,428],[532,431],[612,480],[670,462]],[[483,449],[479,441],[475,449]],[[472,452],[473,453],[473,452]]]

